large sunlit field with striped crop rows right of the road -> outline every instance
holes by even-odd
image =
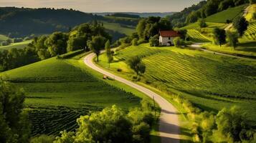
[[[134,73],[125,64],[131,56],[143,57],[146,73],[141,81],[161,91],[181,94],[197,107],[217,112],[237,105],[256,122],[256,63],[202,51],[175,47],[130,46],[115,54],[111,71],[127,78]],[[104,55],[100,66],[108,68]],[[250,104],[250,106],[248,106]]]

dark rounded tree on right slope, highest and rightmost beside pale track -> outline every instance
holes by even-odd
[[[249,23],[248,23],[248,21],[246,21],[245,17],[238,16],[237,18],[234,19],[233,26],[235,29],[237,29],[240,36],[242,36],[245,33],[245,31],[247,30]]]

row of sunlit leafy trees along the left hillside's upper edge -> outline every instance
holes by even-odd
[[[94,45],[98,44],[98,39],[103,39],[103,46]],[[24,49],[0,51],[0,71],[32,64],[77,49],[88,51],[93,50],[95,46],[102,49],[107,40],[111,40],[111,36],[105,31],[103,24],[97,21],[76,26],[69,33],[54,32],[49,36],[35,37]]]

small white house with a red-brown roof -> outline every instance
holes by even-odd
[[[181,36],[177,31],[159,31],[159,45],[171,46],[174,45],[174,39]]]

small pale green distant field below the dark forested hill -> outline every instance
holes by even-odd
[[[121,26],[120,24],[108,23],[108,22],[103,22],[103,24],[104,24],[105,29],[118,31],[119,33],[125,34],[125,35],[131,35],[136,31],[135,27],[134,28],[124,27],[124,26]]]

